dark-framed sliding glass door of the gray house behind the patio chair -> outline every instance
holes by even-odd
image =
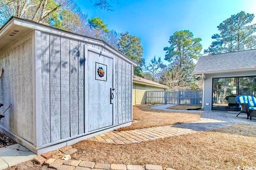
[[[256,95],[256,76],[213,78],[212,109],[238,110],[237,95]]]

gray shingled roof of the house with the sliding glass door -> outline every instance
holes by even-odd
[[[256,49],[200,56],[194,74],[256,70]]]

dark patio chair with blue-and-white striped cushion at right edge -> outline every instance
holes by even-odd
[[[241,111],[239,112],[239,114],[247,114],[247,119],[249,119],[250,117],[250,120],[252,119],[252,117],[256,117],[256,98],[254,96],[236,96],[236,102],[241,105]]]

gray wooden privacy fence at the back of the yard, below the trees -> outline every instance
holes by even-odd
[[[201,105],[203,91],[146,91],[146,103]]]

